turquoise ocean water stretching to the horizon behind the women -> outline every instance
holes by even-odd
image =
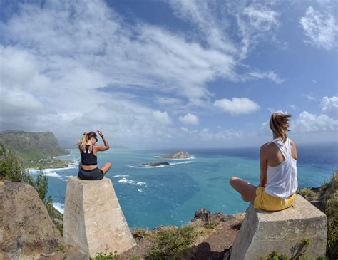
[[[61,159],[80,160],[78,149]],[[338,169],[337,145],[298,147],[298,184],[319,187]],[[232,175],[257,185],[260,181],[258,148],[188,150],[192,160],[160,159],[173,150],[114,149],[98,154],[98,165],[112,163],[109,177],[130,227],[158,227],[187,224],[201,207],[211,212],[244,212],[242,201],[229,184]],[[168,161],[170,165],[147,167],[143,162]],[[35,171],[31,171],[34,173]],[[48,194],[63,211],[66,181],[78,174],[77,163],[60,170],[45,170]]]

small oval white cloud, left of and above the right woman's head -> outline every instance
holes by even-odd
[[[226,98],[216,100],[214,105],[232,115],[250,114],[260,109],[260,105],[249,98]]]

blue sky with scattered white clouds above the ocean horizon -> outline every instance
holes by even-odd
[[[337,1],[0,0],[0,130],[76,147],[338,139]],[[99,142],[102,144],[102,142]]]

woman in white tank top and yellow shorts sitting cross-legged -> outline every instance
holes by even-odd
[[[295,142],[287,137],[290,117],[283,113],[271,115],[273,140],[260,147],[260,184],[256,187],[235,176],[230,178],[231,186],[255,209],[277,211],[295,203],[297,150]]]

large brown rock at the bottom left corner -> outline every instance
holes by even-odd
[[[62,244],[38,193],[23,182],[0,182],[0,258],[31,259]]]

